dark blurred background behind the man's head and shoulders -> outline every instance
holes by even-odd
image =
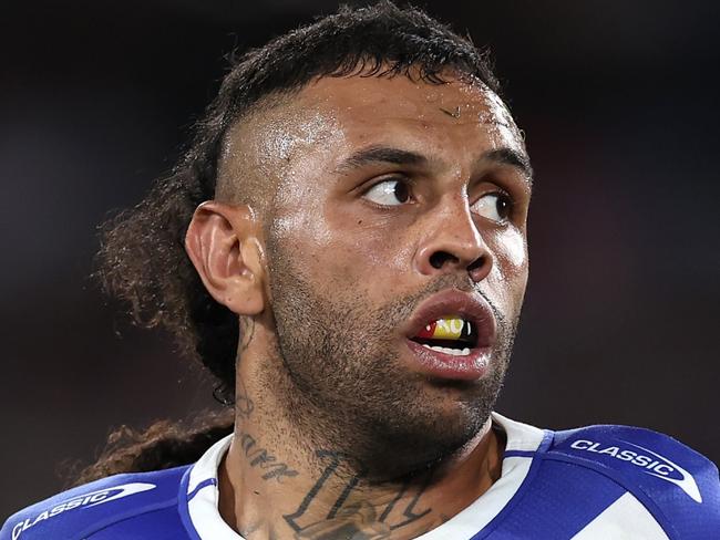
[[[498,406],[647,426],[720,458],[718,2],[424,3],[488,44],[537,173],[531,284]],[[0,521],[109,430],[212,407],[88,279],[95,226],[178,155],[234,46],[336,3],[3,2]]]

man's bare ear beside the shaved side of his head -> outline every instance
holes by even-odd
[[[261,228],[247,205],[208,200],[195,209],[185,250],[213,298],[238,315],[265,310]]]

